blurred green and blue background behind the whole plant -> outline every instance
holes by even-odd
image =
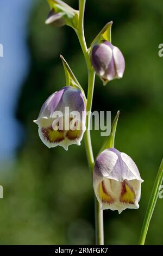
[[[66,3],[78,9],[77,0]],[[1,0],[0,43],[0,199],[1,245],[88,245],[95,243],[93,191],[84,142],[66,152],[49,150],[33,123],[47,97],[65,86],[60,53],[87,90],[87,72],[70,27],[46,26],[46,0]],[[126,58],[122,80],[106,87],[96,78],[93,111],[120,109],[116,148],[139,167],[139,210],[104,211],[105,244],[139,241],[143,217],[162,159],[163,43],[162,0],[87,0],[87,45],[113,20],[112,43]],[[92,131],[95,155],[103,142]],[[146,243],[163,244],[163,199],[158,199]]]

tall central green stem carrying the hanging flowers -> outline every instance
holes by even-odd
[[[84,11],[85,11],[86,0],[79,0],[79,27],[76,31],[82,51],[85,57],[87,70],[88,70],[88,91],[87,91],[87,119],[86,119],[86,131],[85,131],[85,149],[87,154],[87,161],[89,163],[89,168],[91,174],[93,174],[93,167],[95,165],[95,160],[93,157],[91,135],[90,135],[90,118],[93,100],[93,90],[95,85],[95,71],[92,68],[89,51],[87,50],[85,35],[84,35]],[[103,210],[101,210],[101,204],[97,202],[95,196],[95,223],[96,223],[96,244],[104,245],[104,235],[103,235]]]

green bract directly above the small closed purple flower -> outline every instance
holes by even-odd
[[[109,41],[111,42],[111,26],[112,26],[112,21],[108,22],[101,32],[96,36],[96,38],[93,40],[90,48],[92,48],[94,45],[99,44],[101,41]]]

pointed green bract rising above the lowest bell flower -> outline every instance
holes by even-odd
[[[117,112],[116,117],[115,117],[115,119],[112,123],[112,126],[111,126],[110,135],[108,137],[106,137],[106,139],[103,143],[103,146],[102,146],[101,150],[99,151],[99,153],[101,153],[105,149],[114,148],[116,128],[117,128],[119,115],[120,115],[120,111]]]

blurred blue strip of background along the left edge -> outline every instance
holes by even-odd
[[[0,160],[8,160],[22,139],[22,127],[15,118],[15,111],[20,87],[29,71],[26,39],[32,3],[14,0],[9,5],[1,1],[0,6],[0,38],[4,54],[0,59],[0,116],[3,124],[0,126]]]

